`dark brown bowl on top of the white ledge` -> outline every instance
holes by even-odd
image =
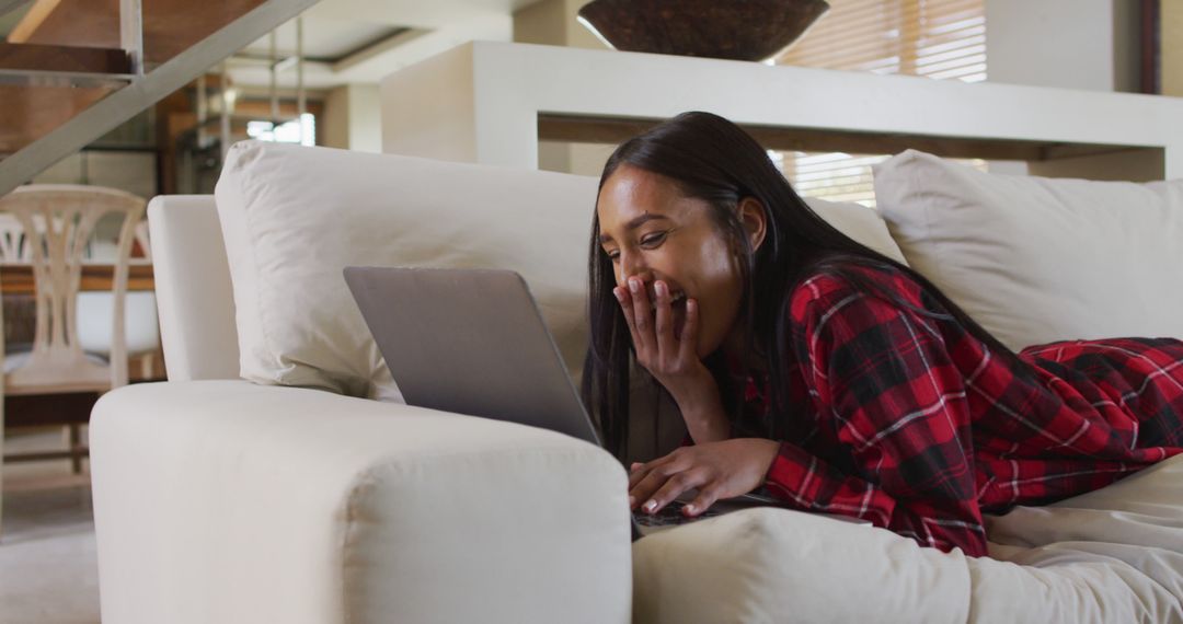
[[[764,60],[827,11],[823,0],[594,0],[578,17],[626,52]]]

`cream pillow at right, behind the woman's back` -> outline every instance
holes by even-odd
[[[1183,181],[991,175],[907,150],[874,182],[911,266],[1011,349],[1183,338]]]

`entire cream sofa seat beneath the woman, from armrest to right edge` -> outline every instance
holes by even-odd
[[[633,619],[1183,622],[1183,455],[1047,507],[987,516],[990,557],[746,509],[633,545]]]

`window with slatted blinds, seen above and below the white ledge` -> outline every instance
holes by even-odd
[[[985,80],[985,0],[828,1],[829,12],[777,64]],[[886,158],[794,151],[774,160],[801,195],[873,207],[871,165]]]

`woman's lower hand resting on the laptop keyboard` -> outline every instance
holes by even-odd
[[[698,496],[683,509],[698,515],[719,499],[746,494],[764,483],[780,442],[739,437],[681,447],[648,463],[634,463],[628,475],[629,506],[657,513],[689,489]]]

